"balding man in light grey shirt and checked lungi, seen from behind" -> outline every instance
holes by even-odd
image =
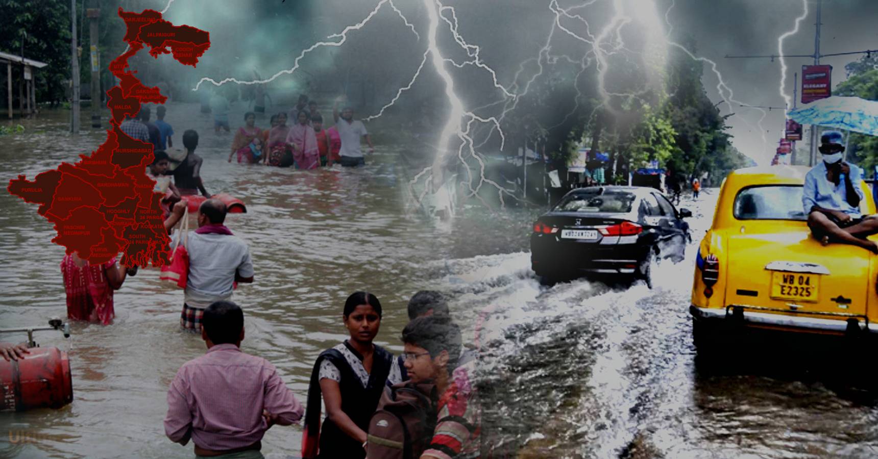
[[[226,204],[219,199],[207,199],[198,207],[198,229],[186,241],[189,275],[180,315],[180,326],[186,329],[201,330],[205,308],[232,298],[235,282],[253,282],[247,243],[223,225],[225,220]]]

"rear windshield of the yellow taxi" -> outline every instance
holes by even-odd
[[[806,220],[802,210],[802,187],[755,186],[738,191],[735,218],[739,220]]]

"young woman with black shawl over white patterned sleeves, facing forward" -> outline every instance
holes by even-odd
[[[306,458],[365,457],[366,429],[378,398],[388,381],[401,380],[393,355],[372,343],[381,326],[378,298],[354,292],[344,303],[342,319],[350,338],[323,351],[311,373],[302,437]],[[321,394],[327,408],[322,428]]]

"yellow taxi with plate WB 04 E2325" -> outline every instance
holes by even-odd
[[[814,239],[802,209],[809,169],[738,169],[723,181],[713,225],[699,247],[689,308],[700,350],[723,331],[751,327],[878,332],[878,257]],[[874,214],[872,193],[861,186],[860,212]]]

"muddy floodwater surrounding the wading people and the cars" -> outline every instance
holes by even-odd
[[[47,111],[22,122],[25,133],[0,137],[4,183],[74,162],[104,140],[90,129],[68,134],[66,117]],[[240,126],[240,113],[231,118]],[[450,295],[464,340],[479,348],[483,428],[496,456],[878,456],[874,348],[730,342],[715,360],[696,358],[689,290],[716,190],[684,199],[694,242],[686,261],[659,265],[653,290],[586,280],[545,287],[528,253],[542,211],[464,202],[449,223],[407,212],[412,171],[399,155],[422,146],[382,141],[394,138],[392,126],[370,126],[378,145],[364,169],[297,171],[228,163],[232,135],[214,134],[194,104],[170,104],[167,120],[177,145],[185,129],[198,130],[207,190],[247,204],[227,218],[255,265],[255,283],[234,294],[245,310],[242,348],[274,363],[303,402],[314,359],[346,337],[349,293],[380,298],[378,341],[399,352],[407,298],[429,288]],[[63,248],[49,242],[51,225],[7,193],[0,210],[0,327],[64,316]],[[0,456],[191,457],[191,445],[171,443],[162,428],[176,369],[205,351],[180,330],[182,302],[156,269],[141,269],[116,293],[111,326],[74,323],[69,340],[37,333],[42,346],[68,352],[74,401],[0,412]],[[273,427],[263,454],[296,457],[300,437],[301,427]]]

